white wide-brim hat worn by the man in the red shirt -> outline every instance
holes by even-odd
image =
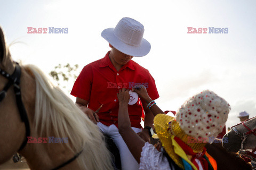
[[[122,18],[115,28],[107,28],[101,32],[109,44],[120,52],[142,57],[149,53],[151,45],[143,38],[143,25],[131,18]]]

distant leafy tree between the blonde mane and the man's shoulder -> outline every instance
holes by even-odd
[[[74,81],[77,78],[77,69],[78,64],[74,66],[67,63],[66,65],[57,65],[54,67],[54,70],[49,73],[49,75],[58,83],[62,89],[67,89],[70,85],[70,82],[74,84]],[[67,89],[70,92],[70,89]]]

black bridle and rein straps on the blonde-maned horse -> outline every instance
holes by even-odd
[[[15,93],[15,97],[16,97],[16,103],[17,103],[19,113],[20,113],[20,118],[21,118],[21,121],[25,123],[26,139],[22,142],[22,144],[18,150],[18,151],[20,151],[26,146],[26,144],[28,142],[28,137],[30,136],[30,126],[29,126],[29,121],[28,121],[28,115],[27,115],[26,109],[25,109],[24,104],[21,99],[21,91],[20,91],[21,68],[20,68],[19,63],[15,64],[15,70],[11,75],[2,69],[0,69],[0,74],[9,80],[5,84],[3,90],[0,91],[0,103],[6,97],[8,89],[13,85],[13,89],[14,89],[14,93]],[[58,167],[53,168],[52,170],[59,169],[63,166],[68,165],[69,163],[73,162],[73,160],[75,160],[82,153],[82,151],[83,150],[78,152],[73,158],[69,159],[67,162],[61,164]]]

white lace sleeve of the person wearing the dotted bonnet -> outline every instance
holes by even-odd
[[[140,170],[167,170],[171,169],[167,158],[153,145],[146,142],[140,157]]]

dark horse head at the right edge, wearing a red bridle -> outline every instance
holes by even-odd
[[[256,117],[251,118],[241,124],[233,126],[231,130],[225,134],[223,139],[227,139],[226,142],[223,140],[222,146],[228,151],[237,152],[240,149],[254,149],[256,147]],[[243,145],[242,145],[243,143]]]

